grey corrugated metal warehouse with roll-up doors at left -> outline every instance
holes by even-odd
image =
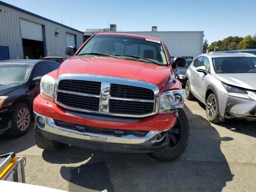
[[[82,43],[83,32],[0,1],[0,60],[65,57]]]

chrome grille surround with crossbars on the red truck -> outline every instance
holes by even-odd
[[[94,81],[94,82],[101,82],[103,86],[101,86],[101,91],[99,94],[102,95],[102,89],[106,89],[107,84],[122,84],[122,85],[130,85],[130,86],[136,86],[136,87],[142,87],[142,88],[147,88],[150,89],[154,92],[154,108],[152,113],[148,114],[143,114],[143,115],[133,115],[133,114],[116,114],[116,113],[110,113],[108,108],[106,107],[106,102],[105,105],[104,103],[100,103],[100,108],[99,111],[92,111],[92,110],[83,110],[79,108],[72,108],[69,106],[66,106],[65,104],[62,104],[61,102],[57,101],[57,93],[62,91],[58,90],[58,84],[60,80],[84,80],[84,81]],[[107,90],[105,90],[107,91]],[[104,91],[103,91],[104,92]],[[73,92],[74,93],[74,92]],[[108,100],[111,97],[111,93],[108,91]],[[94,95],[91,95],[94,96]],[[98,96],[100,99],[100,102],[102,101],[102,96]],[[114,98],[115,99],[115,98]],[[120,100],[126,100],[129,98],[122,98]],[[150,100],[136,100],[132,99],[133,101],[140,101],[140,102],[152,102]],[[140,80],[134,80],[134,79],[129,79],[129,78],[121,78],[121,77],[114,77],[114,76],[105,76],[105,75],[95,75],[95,74],[61,74],[58,76],[56,80],[56,85],[55,85],[55,90],[54,90],[54,102],[63,108],[69,109],[69,110],[74,110],[74,111],[80,111],[80,112],[88,112],[88,113],[94,113],[94,114],[104,114],[104,115],[110,115],[110,116],[124,116],[124,117],[136,117],[136,118],[142,118],[150,115],[154,115],[158,113],[158,108],[159,108],[159,89],[158,86],[152,83],[140,81]],[[103,107],[104,106],[104,107]],[[103,108],[104,109],[103,109]]]

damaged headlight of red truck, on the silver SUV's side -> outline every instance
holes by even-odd
[[[181,90],[166,91],[160,94],[159,113],[171,113],[184,106],[184,93]]]

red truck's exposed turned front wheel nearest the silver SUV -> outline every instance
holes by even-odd
[[[183,109],[178,109],[179,116],[175,125],[168,132],[167,138],[170,140],[166,148],[148,154],[152,158],[159,160],[174,160],[178,158],[185,150],[189,138],[188,118]]]

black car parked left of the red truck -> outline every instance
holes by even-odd
[[[43,60],[0,61],[0,135],[21,136],[28,131],[41,77],[59,66]]]

